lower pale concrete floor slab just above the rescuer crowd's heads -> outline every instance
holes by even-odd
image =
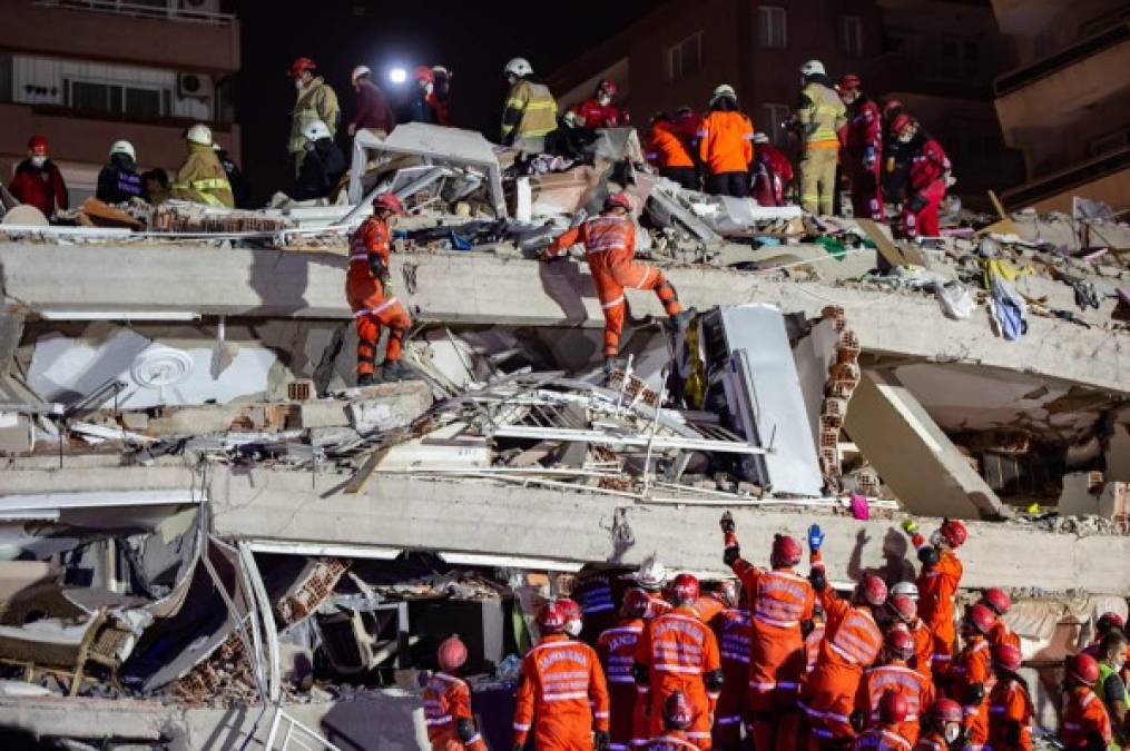
[[[658,552],[671,567],[723,573],[721,507],[637,505],[629,498],[484,481],[379,474],[346,495],[339,474],[211,466],[9,470],[5,490],[200,488],[206,484],[215,531],[225,538],[473,552],[563,562],[637,565]],[[862,568],[909,578],[914,551],[895,521],[860,522],[805,509],[733,508],[747,557],[766,564],[774,533],[802,538],[809,524],[827,532],[834,580]],[[930,532],[932,523],[922,523]],[[1076,536],[1005,523],[970,523],[962,548],[964,586],[1086,590],[1130,595],[1130,538]]]

